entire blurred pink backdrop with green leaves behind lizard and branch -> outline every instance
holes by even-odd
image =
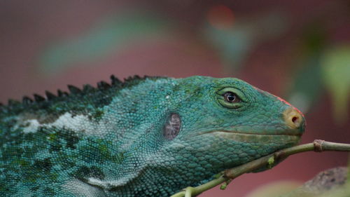
[[[111,74],[237,77],[301,109],[302,143],[350,143],[350,1],[1,1],[0,102]],[[298,154],[200,196],[290,188],[347,158]]]

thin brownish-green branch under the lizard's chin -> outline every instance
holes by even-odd
[[[175,193],[171,197],[190,197],[190,196],[197,196],[198,194],[202,193],[203,191],[207,191],[208,189],[213,188],[214,186],[217,186],[218,184],[224,184],[221,186],[221,189],[225,189],[228,183],[235,179],[236,177],[239,177],[240,175],[243,175],[247,172],[252,172],[253,170],[258,170],[261,168],[272,168],[274,165],[277,165],[279,162],[283,161],[288,156],[291,156],[293,154],[298,154],[306,151],[315,151],[315,152],[322,152],[322,151],[350,151],[350,144],[342,144],[342,143],[335,143],[335,142],[325,142],[324,140],[314,140],[312,143],[308,144],[302,144],[295,147],[290,147],[287,149],[281,149],[279,151],[274,152],[273,154],[269,154],[267,156],[260,157],[254,161],[244,163],[243,165],[239,165],[235,168],[231,168],[229,170],[225,170],[222,172],[221,176],[211,180],[210,182],[207,182],[205,184],[202,184],[200,186],[196,187],[188,187],[184,191],[180,191],[179,193]]]

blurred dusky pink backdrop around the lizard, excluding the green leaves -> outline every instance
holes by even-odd
[[[330,43],[349,43],[350,4],[346,1],[2,1],[0,3],[0,102],[21,100],[23,95],[44,90],[66,90],[66,84],[81,87],[134,74],[186,77],[205,75],[238,77],[275,95],[284,95],[298,69],[293,62],[302,51],[302,27],[319,18],[325,24]],[[227,6],[233,20],[253,20],[276,11],[287,16],[288,27],[272,39],[253,40],[240,69],[228,69],[214,46],[203,41],[201,32],[213,6]],[[171,31],[137,41],[88,61],[69,62],[55,72],[43,72],[43,51],[66,40],[74,40],[109,15],[127,10],[156,13],[172,22]],[[230,18],[229,18],[230,19]],[[232,18],[231,18],[232,20]],[[44,65],[45,66],[45,65]],[[229,67],[230,68],[230,67]],[[228,72],[230,70],[230,72]],[[305,114],[307,131],[302,143],[314,139],[350,143],[347,119],[336,124],[332,118],[330,94],[321,93]],[[349,110],[349,105],[348,109]],[[291,156],[272,170],[242,175],[228,189],[218,188],[202,197],[244,196],[262,184],[278,180],[305,180],[317,172],[346,165],[346,153],[305,153]]]

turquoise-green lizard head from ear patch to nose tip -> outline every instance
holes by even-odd
[[[165,136],[168,150],[201,163],[194,165],[198,169],[232,168],[291,147],[304,133],[298,109],[244,81],[203,76],[181,80],[183,100],[169,116]],[[179,131],[176,136],[174,130]]]

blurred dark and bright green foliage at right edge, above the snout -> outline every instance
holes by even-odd
[[[305,30],[300,50],[299,69],[288,90],[290,102],[307,112],[328,93],[336,123],[345,123],[349,116],[350,43],[332,46],[322,23],[316,22]]]

